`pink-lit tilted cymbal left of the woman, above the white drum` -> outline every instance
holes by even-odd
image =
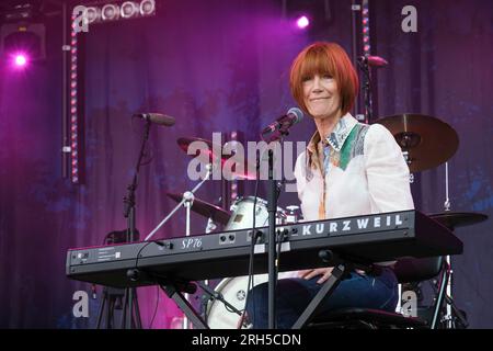
[[[222,148],[225,146],[220,146],[218,144],[213,144],[213,141],[207,140],[207,139],[202,139],[202,138],[196,138],[196,137],[182,137],[179,138],[176,140],[177,145],[180,146],[180,148],[185,151],[186,154],[188,154],[188,147],[194,141],[200,141],[200,143],[205,143],[205,145],[207,146],[206,148],[200,148],[200,149],[196,149],[195,155],[190,155],[192,157],[202,157],[199,160],[204,163],[210,163],[210,162],[218,162],[218,160],[220,160],[221,163],[221,170],[223,171],[223,174],[226,176],[226,173],[228,173],[228,178],[238,178],[238,179],[243,179],[243,180],[254,180],[256,178],[255,174],[255,166],[250,165],[246,160],[244,160],[242,157],[240,157],[240,155],[234,156],[234,159],[230,160],[228,162],[228,168],[225,169],[225,163],[232,158],[232,155],[218,155],[218,152],[222,154]],[[225,144],[226,145],[226,144]],[[199,146],[199,145],[197,145]],[[204,158],[204,156],[206,156]],[[208,156],[208,157],[207,157]],[[236,165],[233,166],[234,161],[237,161],[238,163],[243,166],[243,170],[241,169],[236,169]],[[231,170],[231,174],[229,174]]]

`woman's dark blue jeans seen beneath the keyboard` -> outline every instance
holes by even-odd
[[[310,280],[283,279],[276,287],[277,328],[289,329],[319,292],[320,276]],[[330,296],[320,304],[317,316],[347,308],[376,308],[394,312],[398,303],[398,281],[393,271],[383,268],[379,275],[351,273]],[[254,329],[268,327],[268,285],[260,284],[249,292],[246,313]]]

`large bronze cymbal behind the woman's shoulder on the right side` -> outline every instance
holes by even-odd
[[[399,114],[376,123],[392,133],[403,151],[408,151],[411,172],[420,172],[446,162],[459,147],[457,132],[447,123],[424,114]]]

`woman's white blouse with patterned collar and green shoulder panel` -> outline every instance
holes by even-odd
[[[324,143],[330,151],[324,176],[314,165],[313,147],[320,143],[317,132],[295,165],[303,220],[323,219],[319,211],[330,219],[414,208],[409,167],[385,126],[368,126],[344,115]]]

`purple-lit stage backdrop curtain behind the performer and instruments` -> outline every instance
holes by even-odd
[[[294,13],[302,1],[287,3]],[[316,26],[305,32],[283,16],[280,1],[260,0],[162,1],[157,16],[90,26],[80,63],[85,71],[81,185],[61,178],[61,20],[47,20],[47,59],[22,72],[1,67],[0,327],[94,327],[102,287],[92,298],[90,284],[68,280],[66,252],[100,245],[110,231],[126,228],[123,197],[142,137],[142,122],[130,116],[152,111],[176,118],[173,127],[152,125],[150,132],[149,162],[141,169],[136,199],[144,237],[173,208],[165,193],[196,184],[186,176],[191,158],[177,138],[211,139],[213,132],[241,131],[248,140],[259,140],[263,126],[295,106],[288,72],[303,46],[325,39],[351,53],[351,1],[329,3],[328,15],[319,13]],[[449,162],[451,210],[493,215],[488,157],[493,4],[440,3],[413,1],[417,33],[401,30],[401,10],[411,3],[371,4],[372,54],[390,63],[375,75],[376,114],[419,112],[449,123],[460,138]],[[287,140],[307,140],[312,133],[306,118]],[[444,177],[444,166],[416,174],[419,210],[443,211]],[[219,191],[220,183],[210,181],[196,195],[216,202]],[[252,194],[249,182],[244,195]],[[298,204],[295,193],[283,193],[279,202]],[[156,238],[183,236],[184,214],[181,210]],[[493,293],[490,223],[458,229],[465,253],[454,258],[457,304],[478,328],[493,327],[486,301]],[[205,218],[192,215],[193,234],[205,225]],[[89,318],[72,314],[78,291],[90,295]],[[138,295],[144,327],[176,326],[181,314],[162,292],[146,287]]]

